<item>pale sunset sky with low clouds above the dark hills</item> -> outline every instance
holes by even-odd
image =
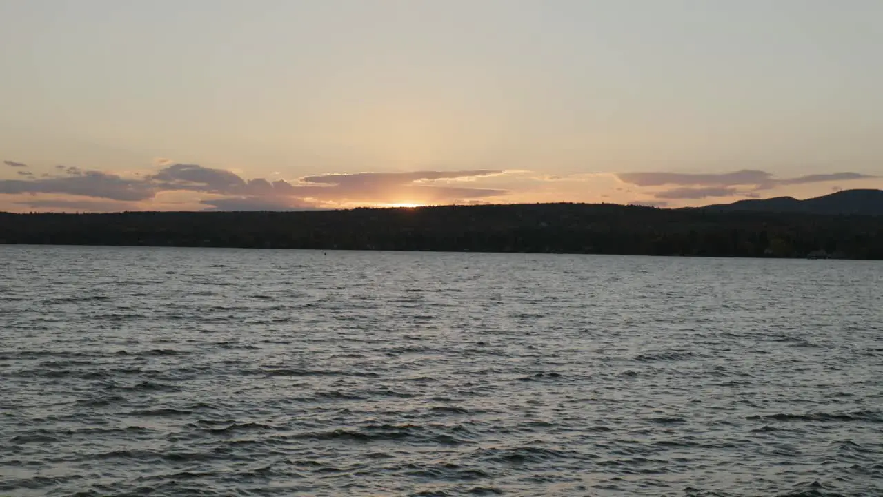
[[[883,188],[879,0],[0,0],[0,210]]]

